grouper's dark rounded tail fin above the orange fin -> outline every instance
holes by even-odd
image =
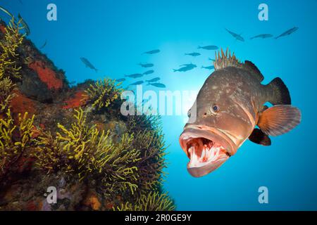
[[[288,91],[287,86],[282,82],[280,77],[274,78],[270,84],[267,85],[271,90],[271,99],[270,103],[273,105],[290,105],[290,91]]]

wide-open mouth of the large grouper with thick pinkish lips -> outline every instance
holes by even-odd
[[[235,152],[235,144],[221,131],[196,125],[185,127],[180,146],[189,158],[187,170],[195,177],[209,174]]]

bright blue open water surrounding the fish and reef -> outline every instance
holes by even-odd
[[[199,179],[187,173],[188,159],[178,144],[184,117],[163,116],[170,145],[164,188],[178,210],[317,210],[316,1],[21,1],[0,5],[25,18],[37,46],[47,40],[43,52],[66,71],[70,82],[144,72],[137,63],[149,62],[155,73],[147,78],[161,77],[171,91],[199,91],[210,74],[200,67],[211,65],[208,58],[214,51],[197,46],[211,44],[251,60],[265,76],[264,83],[281,77],[292,104],[302,110],[299,127],[273,137],[270,147],[246,141],[223,166]],[[49,3],[57,6],[57,21],[46,20]],[[258,20],[261,3],[268,4],[268,21]],[[249,40],[262,33],[277,36],[294,26],[299,30],[289,37]],[[246,41],[235,41],[225,28]],[[161,53],[142,55],[152,49]],[[201,56],[184,56],[192,51]],[[80,57],[99,72],[85,68]],[[198,67],[185,73],[172,70],[191,62]],[[268,204],[259,204],[259,186],[268,187]]]

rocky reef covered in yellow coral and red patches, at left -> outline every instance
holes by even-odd
[[[0,210],[175,210],[159,118],[123,116],[115,80],[70,87],[14,18],[0,54]]]

